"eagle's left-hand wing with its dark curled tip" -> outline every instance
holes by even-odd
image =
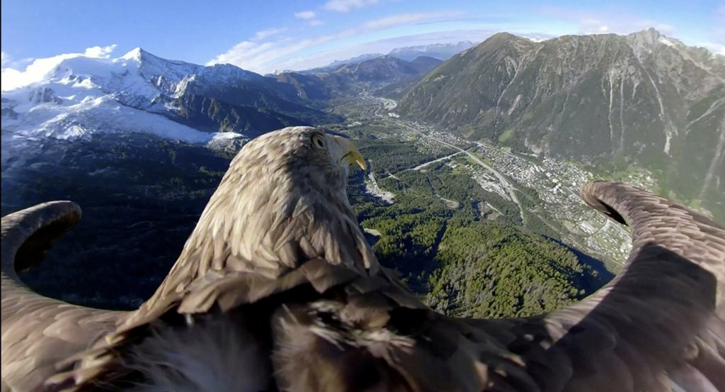
[[[43,297],[17,277],[16,269],[40,263],[78,219],[80,208],[67,201],[2,218],[2,391],[37,391],[59,360],[85,350],[125,316]]]

